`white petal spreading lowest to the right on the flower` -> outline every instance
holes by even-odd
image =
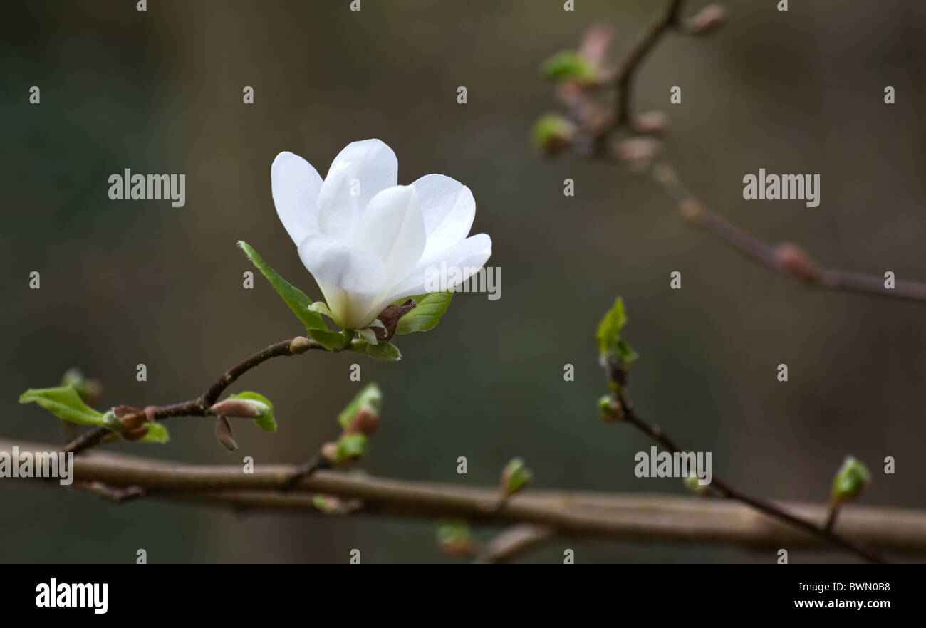
[[[485,233],[471,235],[435,256],[423,257],[408,279],[390,290],[383,301],[392,303],[404,296],[434,292],[429,290],[432,284],[439,290],[449,290],[478,272],[491,255],[492,238]]]

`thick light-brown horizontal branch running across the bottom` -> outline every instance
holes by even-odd
[[[0,450],[55,451],[55,446],[0,439]],[[360,516],[457,518],[473,524],[532,523],[558,536],[621,541],[711,543],[756,549],[787,547],[828,549],[817,534],[807,534],[739,504],[679,496],[613,495],[531,491],[505,508],[487,511],[497,487],[386,480],[336,471],[317,471],[293,491],[282,491],[293,465],[257,465],[244,473],[239,465],[182,465],[149,458],[91,452],[74,458],[75,482],[99,482],[113,488],[138,486],[145,499],[207,504],[242,510],[319,512],[314,495],[359,499]],[[28,479],[24,479],[27,480]],[[57,486],[54,482],[36,484]],[[131,503],[120,507],[131,508]],[[826,506],[784,504],[782,508],[822,521]],[[354,515],[352,515],[354,516]],[[897,553],[926,553],[926,511],[846,507],[840,529],[861,541]]]

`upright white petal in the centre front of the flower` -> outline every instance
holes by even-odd
[[[382,259],[386,284],[406,279],[424,251],[424,221],[411,185],[395,185],[373,196],[357,221],[353,244]]]

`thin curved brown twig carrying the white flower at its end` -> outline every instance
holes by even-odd
[[[222,373],[219,379],[211,386],[209,386],[206,392],[201,396],[198,396],[195,399],[191,399],[190,401],[170,404],[169,406],[153,406],[150,408],[145,408],[145,414],[148,415],[149,420],[151,421],[163,421],[165,419],[169,419],[170,417],[204,417],[208,413],[209,408],[211,408],[213,404],[219,400],[219,396],[225,391],[225,389],[231,386],[232,383],[234,383],[247,371],[250,371],[260,364],[263,364],[270,358],[277,358],[280,356],[297,356],[306,353],[306,351],[309,349],[321,348],[324,347],[316,343],[314,340],[309,340],[303,336],[296,336],[295,338],[290,338],[289,340],[283,340],[279,343],[274,343],[273,345],[269,345],[268,347],[261,349],[256,354],[244,358],[244,360],[233,366],[231,369]],[[99,445],[111,433],[112,432],[105,427],[94,427],[92,430],[82,433],[76,439],[71,441],[67,446],[65,446],[64,451],[70,451],[75,454],[80,453],[85,449]]]

